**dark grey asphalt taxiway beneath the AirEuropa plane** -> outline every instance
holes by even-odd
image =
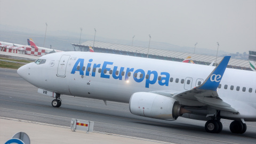
[[[94,121],[94,131],[128,135],[173,143],[256,143],[256,122],[246,122],[244,134],[229,131],[232,121],[221,119],[223,130],[212,134],[204,121],[179,117],[163,121],[135,116],[129,104],[61,95],[60,108],[53,98],[37,93],[37,87],[22,79],[17,70],[0,68],[0,116],[70,126],[71,118]],[[61,140],[60,140],[61,142]]]

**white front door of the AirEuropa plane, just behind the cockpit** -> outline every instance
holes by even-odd
[[[58,65],[57,76],[66,77],[66,68],[70,55],[62,55]]]

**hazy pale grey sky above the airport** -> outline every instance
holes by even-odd
[[[227,52],[256,50],[255,0],[0,0],[1,25],[66,30]],[[1,31],[0,31],[1,33]]]

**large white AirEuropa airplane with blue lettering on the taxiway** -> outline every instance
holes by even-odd
[[[256,75],[226,68],[229,59],[209,67],[109,53],[59,52],[43,55],[17,73],[38,87],[38,93],[54,98],[53,107],[61,106],[61,94],[105,104],[124,102],[138,116],[206,121],[209,133],[220,133],[221,119],[230,119],[230,131],[242,134],[245,122],[256,121]]]

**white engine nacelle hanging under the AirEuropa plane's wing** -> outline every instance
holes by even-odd
[[[133,93],[129,107],[134,115],[165,120],[177,119],[188,112],[179,105],[177,100],[149,92]]]

